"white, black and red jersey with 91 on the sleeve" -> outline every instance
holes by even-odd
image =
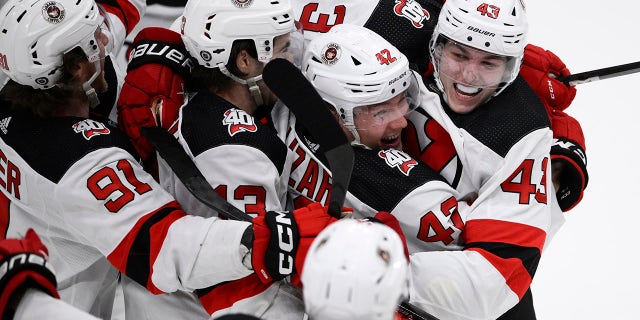
[[[155,294],[252,273],[239,250],[250,224],[187,215],[117,129],[6,107],[0,119],[0,234],[36,230],[66,302],[108,318],[118,271]]]

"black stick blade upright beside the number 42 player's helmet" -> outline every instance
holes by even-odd
[[[331,170],[329,214],[340,218],[353,170],[353,148],[320,94],[300,69],[285,59],[267,63],[262,79],[318,143],[326,148]]]

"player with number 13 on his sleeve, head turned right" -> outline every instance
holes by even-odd
[[[277,100],[261,80],[264,65],[273,58],[293,62],[302,55],[294,51],[302,34],[292,16],[288,1],[190,0],[180,26],[196,63],[176,136],[212,187],[254,216],[284,210],[286,204],[287,148],[258,114],[267,114]],[[138,79],[130,80],[127,83],[135,85]],[[188,212],[207,212],[162,162],[159,179]],[[197,293],[213,316],[241,312],[302,319],[298,291],[283,281],[251,274]]]

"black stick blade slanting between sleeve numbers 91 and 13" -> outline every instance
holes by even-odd
[[[232,206],[215,192],[173,135],[162,127],[142,127],[140,133],[151,142],[160,157],[196,199],[228,219],[248,222],[253,220],[250,215]]]

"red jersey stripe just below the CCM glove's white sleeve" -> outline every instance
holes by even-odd
[[[209,314],[231,307],[235,302],[258,295],[270,286],[262,283],[257,274],[252,273],[242,279],[225,282],[199,297],[200,303]]]

